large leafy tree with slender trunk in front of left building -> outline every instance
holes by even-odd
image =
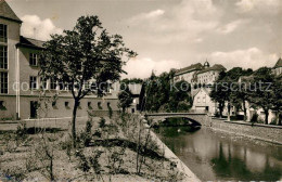
[[[76,146],[76,113],[79,101],[95,91],[99,96],[107,81],[119,79],[125,58],[137,54],[125,48],[119,35],[108,35],[98,16],[81,16],[73,30],[52,35],[40,55],[41,77],[67,84],[75,104],[72,119],[73,145]],[[91,81],[91,87],[86,87]]]

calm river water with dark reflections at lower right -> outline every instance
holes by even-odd
[[[282,145],[203,127],[161,127],[155,132],[203,181],[282,181]]]

